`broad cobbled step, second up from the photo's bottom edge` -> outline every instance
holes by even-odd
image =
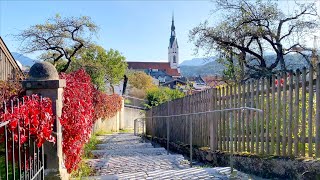
[[[85,161],[96,175],[148,172],[189,168],[189,162],[182,155],[119,156]]]

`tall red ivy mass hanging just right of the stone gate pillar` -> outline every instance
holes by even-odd
[[[65,166],[70,173],[77,169],[81,161],[82,149],[89,140],[93,125],[93,85],[90,76],[80,69],[76,72],[60,75],[65,79],[62,116],[62,151]]]

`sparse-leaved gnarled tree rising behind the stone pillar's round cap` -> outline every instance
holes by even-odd
[[[91,44],[97,25],[88,16],[61,17],[56,15],[42,24],[36,24],[16,35],[22,42],[20,50],[24,53],[41,52],[43,60],[55,66],[65,60],[61,68],[65,72],[72,58],[84,47]],[[60,63],[61,65],[61,63]]]

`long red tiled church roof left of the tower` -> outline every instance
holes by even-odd
[[[180,76],[177,69],[171,69],[168,62],[127,62],[129,69],[158,69],[170,76]]]

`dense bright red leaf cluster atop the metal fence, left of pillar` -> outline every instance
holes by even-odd
[[[36,137],[38,147],[41,147],[44,141],[55,142],[54,137],[51,136],[54,122],[51,100],[49,98],[40,100],[38,95],[25,96],[23,100],[24,104],[20,101],[19,108],[15,104],[12,112],[0,114],[2,122],[10,121],[8,128],[10,133],[14,133],[14,140],[18,142],[19,124],[21,144],[27,141],[29,133],[30,136]],[[10,109],[9,106],[8,109]]]

